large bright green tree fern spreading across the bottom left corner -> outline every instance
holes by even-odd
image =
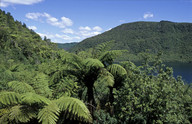
[[[8,85],[12,91],[0,92],[1,123],[27,123],[38,119],[43,124],[56,124],[62,113],[66,119],[92,122],[89,110],[76,98],[63,96],[50,100],[36,94],[27,83],[12,81]]]

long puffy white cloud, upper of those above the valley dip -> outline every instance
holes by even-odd
[[[25,15],[28,19],[41,21],[42,19],[46,20],[46,22],[50,25],[59,27],[59,28],[65,28],[66,26],[72,26],[73,21],[67,17],[61,17],[61,20],[52,17],[48,13],[27,13]]]

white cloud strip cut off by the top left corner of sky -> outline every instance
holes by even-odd
[[[32,5],[35,3],[42,2],[43,0],[1,0],[0,6],[7,7],[13,4],[21,4],[21,5]]]

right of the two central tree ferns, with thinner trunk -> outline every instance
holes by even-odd
[[[105,42],[97,45],[88,51],[78,53],[84,58],[94,58],[100,60],[104,67],[101,68],[100,74],[97,76],[96,82],[101,82],[100,85],[105,85],[109,88],[110,113],[113,115],[113,89],[122,86],[122,82],[126,78],[126,70],[119,64],[113,64],[114,60],[119,57],[125,50],[110,50],[113,41]],[[97,87],[96,87],[97,91]],[[102,92],[102,91],[101,91]],[[107,102],[107,101],[106,101]]]

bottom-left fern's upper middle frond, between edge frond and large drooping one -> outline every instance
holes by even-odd
[[[32,104],[49,104],[51,101],[44,96],[40,96],[35,93],[25,93],[21,97],[21,102],[27,105]]]

